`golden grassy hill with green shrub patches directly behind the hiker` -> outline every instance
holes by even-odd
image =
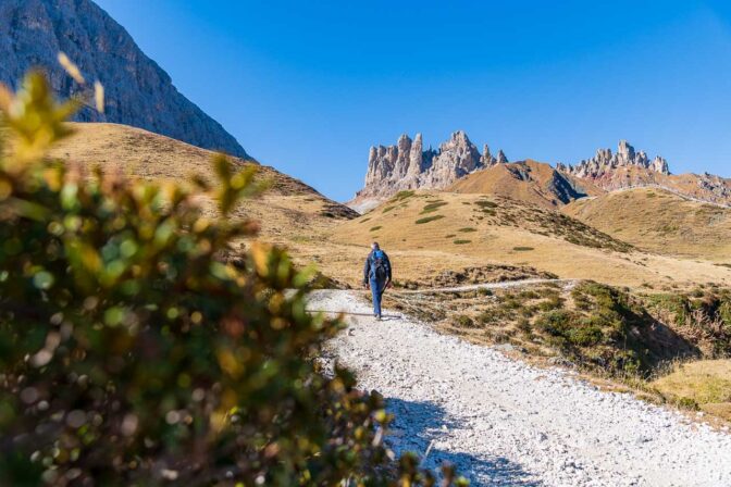
[[[481,195],[406,191],[335,227],[330,244],[343,250],[337,265],[349,280],[358,279],[371,240],[395,257],[399,279],[497,263],[614,285],[731,283],[730,269],[643,253],[556,211]]]

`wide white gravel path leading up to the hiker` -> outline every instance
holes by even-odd
[[[426,467],[449,461],[472,485],[731,486],[731,435],[398,313],[376,322],[352,291],[310,305],[351,313],[330,353],[387,398],[392,447],[429,450]]]

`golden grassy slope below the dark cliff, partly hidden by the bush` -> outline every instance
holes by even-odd
[[[116,124],[73,124],[71,138],[51,155],[83,167],[99,165],[104,172],[120,172],[145,179],[185,180],[191,174],[211,179],[213,153],[179,140],[139,128]],[[250,162],[235,160],[244,167]],[[286,244],[295,235],[319,235],[356,215],[310,186],[259,166],[262,179],[270,183],[263,197],[246,201],[234,212],[238,217],[256,218],[265,240]],[[209,204],[205,202],[205,204]]]

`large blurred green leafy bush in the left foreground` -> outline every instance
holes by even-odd
[[[76,105],[0,86],[0,484],[432,485],[389,469],[377,394],[317,373],[340,323],[306,312],[309,275],[222,259],[255,233],[226,218],[253,172],[219,157],[193,190],[44,160]]]

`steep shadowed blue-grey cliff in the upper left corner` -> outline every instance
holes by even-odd
[[[87,82],[104,85],[106,114],[84,110],[77,121],[132,125],[248,159],[236,139],[181,95],[129,34],[90,0],[0,1],[0,82],[15,87],[27,70],[42,67],[61,96],[77,93],[80,88],[59,66],[59,51]]]

